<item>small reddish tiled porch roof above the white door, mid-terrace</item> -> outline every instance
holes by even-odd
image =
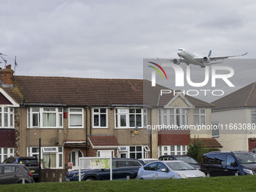
[[[101,146],[119,146],[117,139],[114,136],[89,136],[90,142],[95,147]]]

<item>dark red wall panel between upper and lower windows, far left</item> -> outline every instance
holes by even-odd
[[[15,148],[14,129],[0,129],[0,148]]]

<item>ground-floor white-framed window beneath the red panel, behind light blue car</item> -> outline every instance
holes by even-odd
[[[160,145],[158,146],[159,156],[185,155],[187,154],[187,147],[188,145]]]

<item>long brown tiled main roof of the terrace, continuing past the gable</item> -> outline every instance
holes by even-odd
[[[14,76],[14,87],[5,91],[19,103],[60,105],[166,105],[172,94],[161,96],[157,85],[139,79],[65,78]],[[185,96],[195,107],[210,108],[207,102]]]

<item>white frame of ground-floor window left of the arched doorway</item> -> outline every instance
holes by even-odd
[[[36,152],[33,152],[32,148],[34,148]],[[41,147],[41,167],[42,168],[44,168],[42,164],[44,163],[44,160],[43,160],[44,154],[56,154],[56,167],[49,167],[49,169],[63,169],[63,163],[64,163],[63,147]],[[38,147],[27,148],[27,156],[38,157],[38,160],[39,160],[39,148]]]

